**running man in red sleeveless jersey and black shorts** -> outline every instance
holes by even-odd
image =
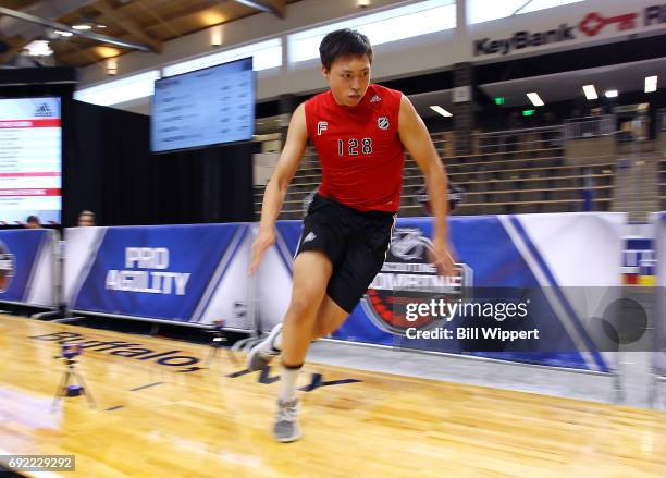
[[[331,89],[301,103],[263,197],[249,272],[275,242],[275,220],[308,140],[317,149],[322,182],[304,220],[292,299],[283,323],[252,347],[248,369],[282,354],[273,434],[300,437],[296,379],[308,346],[334,332],[381,270],[400,205],[405,149],[423,172],[435,217],[433,262],[453,274],[448,252],[446,175],[425,125],[400,91],[370,84],[372,47],[349,29],[330,33],[319,52]]]

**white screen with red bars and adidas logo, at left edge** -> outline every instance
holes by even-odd
[[[0,224],[60,224],[60,98],[0,98]]]

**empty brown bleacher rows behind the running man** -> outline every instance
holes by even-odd
[[[600,158],[593,166],[566,163],[558,130],[511,134],[514,144],[496,134],[480,134],[474,154],[454,156],[451,133],[435,133],[433,143],[452,182],[465,189],[455,215],[610,210],[615,158]],[[545,134],[544,134],[545,133]],[[321,181],[313,150],[308,149],[287,192],[280,219],[301,219],[304,199]],[[666,162],[662,163],[662,201],[666,201]],[[424,179],[407,156],[399,216],[423,216],[417,191]],[[255,211],[261,210],[264,186],[255,188]],[[587,198],[584,197],[587,194]]]

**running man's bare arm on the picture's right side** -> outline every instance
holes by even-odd
[[[400,99],[398,118],[400,142],[416,161],[423,176],[430,195],[430,205],[434,215],[432,243],[433,262],[444,275],[454,275],[454,259],[448,245],[448,198],[444,164],[437,156],[428,128],[406,96]]]

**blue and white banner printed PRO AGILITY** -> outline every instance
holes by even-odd
[[[249,224],[75,228],[65,232],[73,310],[249,329]]]

